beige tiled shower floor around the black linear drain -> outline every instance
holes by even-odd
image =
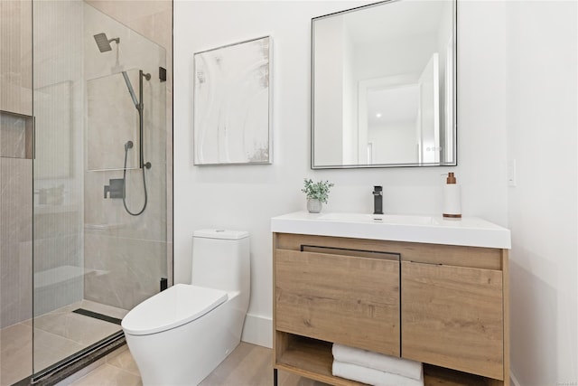
[[[79,315],[83,308],[122,319],[127,311],[83,300],[0,331],[0,386],[11,385],[120,331],[120,325]],[[34,325],[34,329],[33,329]],[[34,342],[33,342],[34,334]],[[34,353],[33,353],[34,351]]]

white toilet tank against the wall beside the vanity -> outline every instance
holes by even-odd
[[[191,284],[248,294],[250,286],[248,232],[194,231]]]

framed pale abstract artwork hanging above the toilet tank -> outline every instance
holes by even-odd
[[[270,36],[196,52],[193,165],[272,164]]]

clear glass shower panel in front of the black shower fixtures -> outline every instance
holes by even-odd
[[[167,276],[164,66],[92,6],[34,1],[35,374],[122,334]]]

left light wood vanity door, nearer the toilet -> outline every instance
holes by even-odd
[[[399,261],[276,249],[275,329],[399,356]]]

